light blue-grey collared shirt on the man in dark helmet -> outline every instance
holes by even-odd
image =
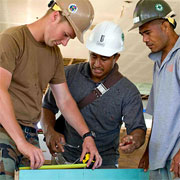
[[[155,62],[146,109],[153,116],[149,144],[151,170],[163,168],[180,149],[180,38],[162,64],[161,55],[162,52],[149,55]]]

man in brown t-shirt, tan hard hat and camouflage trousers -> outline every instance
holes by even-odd
[[[50,9],[38,21],[13,27],[0,34],[0,179],[13,179],[14,169],[32,169],[44,163],[38,148],[36,125],[41,115],[43,90],[49,83],[56,103],[68,123],[84,138],[81,160],[90,152],[90,165],[102,159],[89,129],[73,100],[65,79],[63,60],[57,45],[70,39],[83,42],[83,32],[92,23],[94,11],[88,0],[51,1]],[[81,15],[81,16],[80,16]],[[51,131],[48,125],[44,127]],[[63,139],[55,152],[64,151]],[[35,147],[36,146],[36,147]]]

